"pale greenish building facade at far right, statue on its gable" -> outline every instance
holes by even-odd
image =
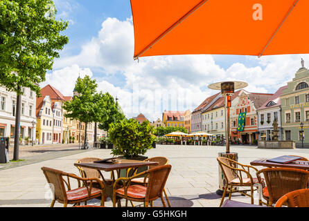
[[[283,140],[294,140],[297,147],[309,145],[309,70],[300,68],[281,94]],[[303,131],[301,133],[301,123]]]

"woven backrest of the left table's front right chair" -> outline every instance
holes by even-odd
[[[164,166],[156,166],[146,171],[146,175],[148,175],[148,184],[145,196],[146,200],[157,198],[157,196],[163,192],[171,169],[172,166],[168,164]]]

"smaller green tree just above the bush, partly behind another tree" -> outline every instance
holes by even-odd
[[[126,118],[118,102],[115,102],[114,97],[109,95],[109,93],[105,93],[105,107],[106,109],[105,112],[103,112],[98,128],[104,131],[109,131],[110,124],[116,124]]]

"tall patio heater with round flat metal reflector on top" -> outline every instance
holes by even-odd
[[[229,108],[231,108],[231,97],[233,96],[235,90],[240,88],[245,88],[248,86],[246,82],[243,81],[224,81],[209,85],[208,87],[213,90],[221,90],[222,96],[225,97],[225,108],[226,108],[226,121],[225,121],[225,140],[226,140],[226,151],[218,153],[219,157],[227,157],[231,160],[238,161],[238,153],[231,153],[229,146]],[[226,180],[224,178],[224,173],[219,166],[219,189],[216,191],[218,195],[222,195],[224,191],[224,186]],[[228,193],[229,191],[227,191]]]

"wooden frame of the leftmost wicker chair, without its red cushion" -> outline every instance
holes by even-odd
[[[57,195],[55,193],[55,191],[53,191],[53,201],[51,202],[51,207],[54,206],[55,204],[55,200],[57,200],[58,202],[64,204],[64,207],[67,207],[67,204],[80,204],[80,202],[85,202],[85,205],[87,204],[87,200],[91,200],[94,198],[98,198],[101,197],[101,206],[104,206],[104,202],[105,202],[105,193],[104,193],[104,185],[103,182],[101,182],[98,178],[82,178],[82,177],[78,177],[77,175],[73,174],[73,173],[65,173],[63,171],[58,171],[56,169],[51,169],[48,167],[42,167],[42,171],[46,177],[46,180],[48,182],[48,184],[52,184],[50,177],[48,176],[48,174],[46,172],[51,172],[51,173],[55,173],[55,175],[57,176],[58,181],[60,182],[60,192],[59,194],[61,195]],[[64,177],[67,177],[67,179],[64,179]],[[87,189],[87,193],[88,196],[87,198],[82,198],[80,200],[68,200],[67,198],[67,191],[71,191],[71,179],[77,180],[78,182],[78,188],[82,187],[81,183],[83,183],[83,186],[85,186],[85,188]],[[96,182],[100,185],[101,187],[101,192],[96,194],[96,195],[91,195],[91,191],[92,191],[92,186],[93,183]],[[65,186],[64,186],[65,184]],[[59,187],[59,186],[58,186]],[[55,187],[57,188],[57,187]]]

